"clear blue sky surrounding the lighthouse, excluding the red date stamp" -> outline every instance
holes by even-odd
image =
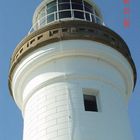
[[[0,140],[22,140],[23,120],[8,90],[10,56],[31,27],[32,15],[41,0],[0,0]],[[140,1],[124,4],[123,0],[95,0],[108,27],[128,44],[136,64],[138,80],[129,101],[129,117],[135,139],[140,140]],[[123,9],[129,7],[130,14]],[[123,20],[129,18],[130,27]]]

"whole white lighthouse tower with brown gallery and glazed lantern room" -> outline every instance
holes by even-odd
[[[23,140],[133,140],[135,82],[126,43],[90,0],[43,0],[9,74]]]

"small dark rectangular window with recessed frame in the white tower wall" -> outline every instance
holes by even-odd
[[[84,89],[83,93],[85,111],[99,112],[97,91]]]

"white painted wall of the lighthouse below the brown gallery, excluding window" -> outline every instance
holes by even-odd
[[[12,89],[24,140],[133,140],[127,60],[109,46],[68,40],[44,46],[18,65]],[[82,89],[98,91],[99,112],[84,110]]]

